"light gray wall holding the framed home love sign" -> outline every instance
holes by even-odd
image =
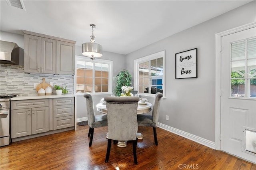
[[[166,99],[159,122],[214,142],[215,34],[255,22],[255,1],[126,55],[134,59],[166,50]],[[168,22],[168,21],[166,21]],[[175,53],[198,48],[198,78],[175,79]],[[166,121],[169,115],[169,121]]]

